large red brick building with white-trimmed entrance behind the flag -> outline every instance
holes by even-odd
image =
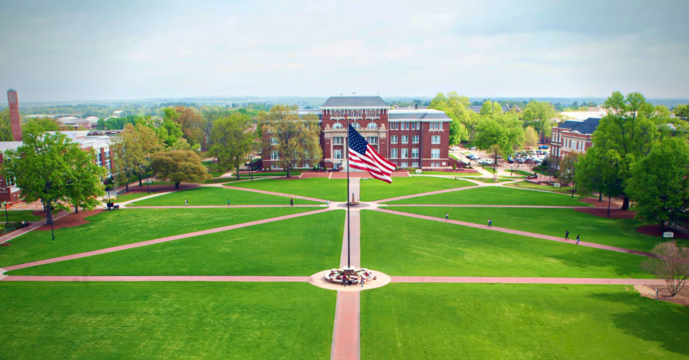
[[[300,114],[309,111],[302,111]],[[380,96],[331,96],[319,110],[321,167],[339,169],[347,158],[347,122],[399,168],[449,167],[451,118],[435,109],[391,109]],[[263,149],[265,168],[278,169],[277,151]],[[302,163],[295,167],[312,167]]]

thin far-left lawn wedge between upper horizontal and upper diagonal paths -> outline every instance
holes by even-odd
[[[289,198],[284,196],[252,193],[251,191],[223,189],[221,187],[196,187],[194,189],[174,191],[165,195],[156,196],[134,202],[132,207],[164,207],[170,205],[184,205],[184,200],[189,205],[227,205],[230,200],[232,205],[289,205]],[[320,204],[309,200],[294,199],[295,204]]]

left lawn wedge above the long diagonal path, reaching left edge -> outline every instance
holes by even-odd
[[[50,231],[32,231],[0,247],[0,267],[35,260],[153,240],[220,226],[311,211],[278,209],[120,209],[86,218],[89,224]]]

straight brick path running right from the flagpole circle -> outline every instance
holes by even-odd
[[[663,279],[597,279],[586,277],[454,277],[391,276],[392,282],[463,282],[504,284],[665,285]]]

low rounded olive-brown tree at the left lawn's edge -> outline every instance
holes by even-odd
[[[154,174],[169,180],[179,189],[181,182],[203,182],[209,178],[208,171],[201,159],[190,150],[158,151],[151,160]]]

